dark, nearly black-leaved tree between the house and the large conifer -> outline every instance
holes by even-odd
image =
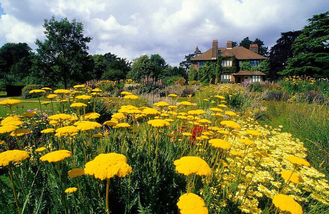
[[[276,40],[276,44],[269,51],[269,73],[267,78],[276,80],[282,75],[279,75],[287,66],[288,58],[294,56],[291,50],[292,43],[299,36],[301,31],[282,32],[281,38]]]

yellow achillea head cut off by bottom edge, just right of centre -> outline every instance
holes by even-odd
[[[181,214],[208,214],[208,209],[205,207],[203,199],[193,193],[185,193],[177,202]]]

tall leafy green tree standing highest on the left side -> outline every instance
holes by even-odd
[[[84,66],[88,62],[89,50],[87,43],[91,37],[84,37],[83,24],[75,19],[69,22],[67,18],[56,21],[53,16],[49,21],[44,20],[44,42],[37,39],[37,63],[39,74],[54,80],[63,80],[65,88],[68,80],[85,81],[88,78]]]

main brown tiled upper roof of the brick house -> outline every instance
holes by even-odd
[[[266,57],[258,53],[252,52],[244,47],[233,47],[232,49],[226,49],[226,47],[223,47],[223,48],[218,48],[218,50],[221,50],[220,55],[227,55],[231,53],[235,55],[237,59],[266,59]],[[204,53],[201,53],[200,55],[194,57],[191,60],[212,60],[211,55],[212,55],[212,48]]]

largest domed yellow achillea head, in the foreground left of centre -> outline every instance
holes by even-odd
[[[131,172],[132,168],[127,164],[126,156],[122,154],[99,154],[85,164],[85,174],[93,175],[100,180],[110,179],[115,175],[125,177]]]

